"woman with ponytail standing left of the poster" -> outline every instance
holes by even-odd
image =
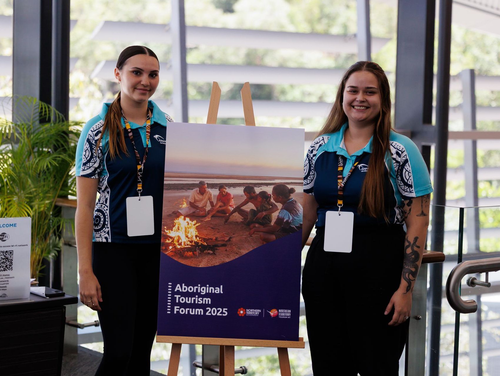
[[[158,75],[158,58],[149,48],[121,51],[114,69],[120,91],[85,124],[78,142],[80,301],[97,311],[104,341],[95,375],[149,375],[158,305],[165,136],[172,121],[149,100]]]

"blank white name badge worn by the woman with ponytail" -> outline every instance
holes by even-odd
[[[126,230],[128,236],[154,234],[153,196],[126,198]]]

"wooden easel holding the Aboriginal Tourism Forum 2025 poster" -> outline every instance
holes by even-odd
[[[217,122],[217,113],[220,102],[220,87],[217,82],[212,84],[210,103],[208,105],[207,124]],[[245,125],[255,125],[253,116],[253,105],[251,102],[250,84],[245,82],[241,89],[241,102],[243,103],[243,114]],[[298,341],[268,341],[268,340],[244,340],[228,338],[206,338],[206,337],[177,337],[156,336],[156,342],[171,343],[170,361],[168,362],[168,376],[176,376],[179,370],[180,348],[182,344],[189,345],[215,345],[219,346],[219,375],[234,376],[234,346],[253,347],[275,347],[278,351],[279,369],[281,376],[291,376],[288,348],[304,349],[304,339]]]

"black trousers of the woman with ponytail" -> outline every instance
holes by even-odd
[[[160,245],[94,242],[104,355],[95,375],[149,375],[156,334]]]

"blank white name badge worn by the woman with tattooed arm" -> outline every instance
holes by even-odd
[[[327,252],[352,252],[353,226],[354,213],[339,211],[326,212],[324,224],[324,250]]]

